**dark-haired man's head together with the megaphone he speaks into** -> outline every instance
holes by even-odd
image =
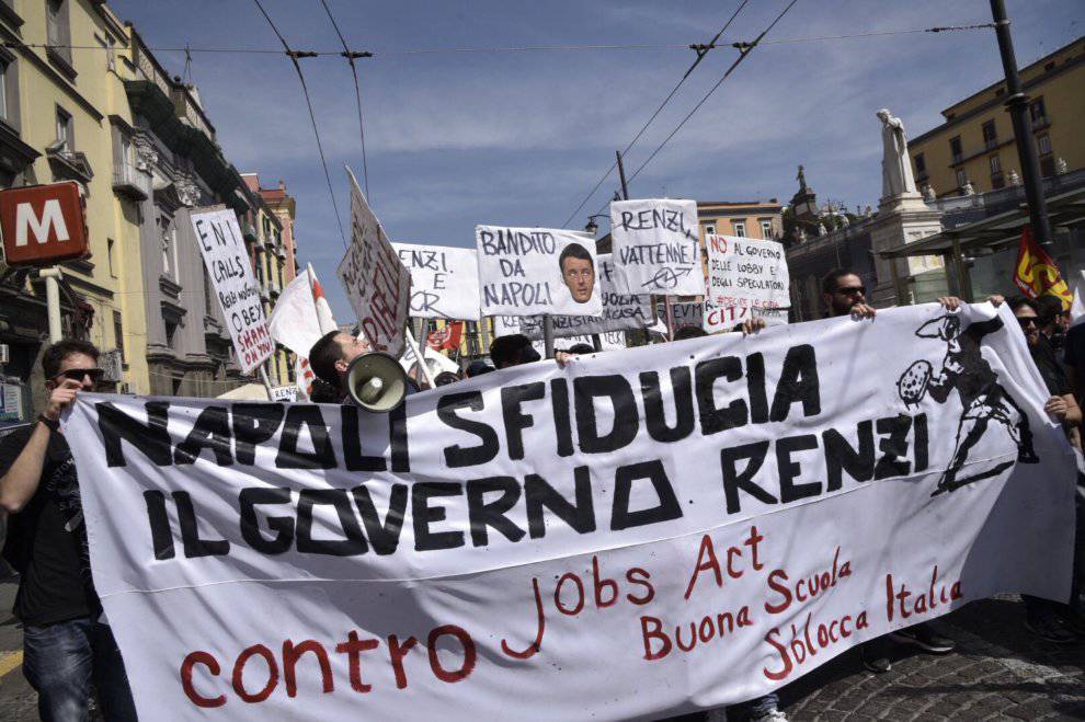
[[[341,331],[327,333],[312,345],[309,365],[319,379],[339,389],[340,403],[384,412],[396,409],[407,396],[407,374],[399,362],[373,351],[365,339]]]

